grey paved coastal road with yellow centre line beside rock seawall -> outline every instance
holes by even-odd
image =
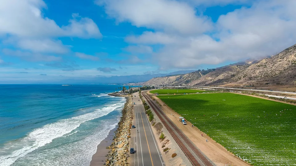
[[[134,105],[135,124],[133,124],[136,128],[131,128],[134,131],[131,132],[130,148],[134,148],[136,152],[130,154],[130,165],[165,166],[138,93],[133,94],[133,102],[136,103]]]

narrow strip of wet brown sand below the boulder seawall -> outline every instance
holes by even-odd
[[[110,149],[106,149],[106,147],[110,146],[113,140],[113,137],[115,136],[116,128],[112,129],[108,136],[101,141],[100,144],[97,146],[97,152],[92,156],[92,161],[90,162],[90,166],[102,166],[106,163],[106,155],[110,151]]]

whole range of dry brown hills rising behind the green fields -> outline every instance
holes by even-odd
[[[178,76],[157,77],[144,85],[296,85],[296,45],[261,61],[238,62],[204,74],[195,71]]]

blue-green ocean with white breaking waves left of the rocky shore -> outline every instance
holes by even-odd
[[[118,85],[0,85],[0,165],[88,166],[116,127]]]

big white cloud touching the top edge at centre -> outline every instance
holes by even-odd
[[[131,22],[137,27],[148,27],[181,34],[203,33],[211,29],[207,17],[196,16],[193,6],[175,0],[98,0],[105,12],[117,22]]]

